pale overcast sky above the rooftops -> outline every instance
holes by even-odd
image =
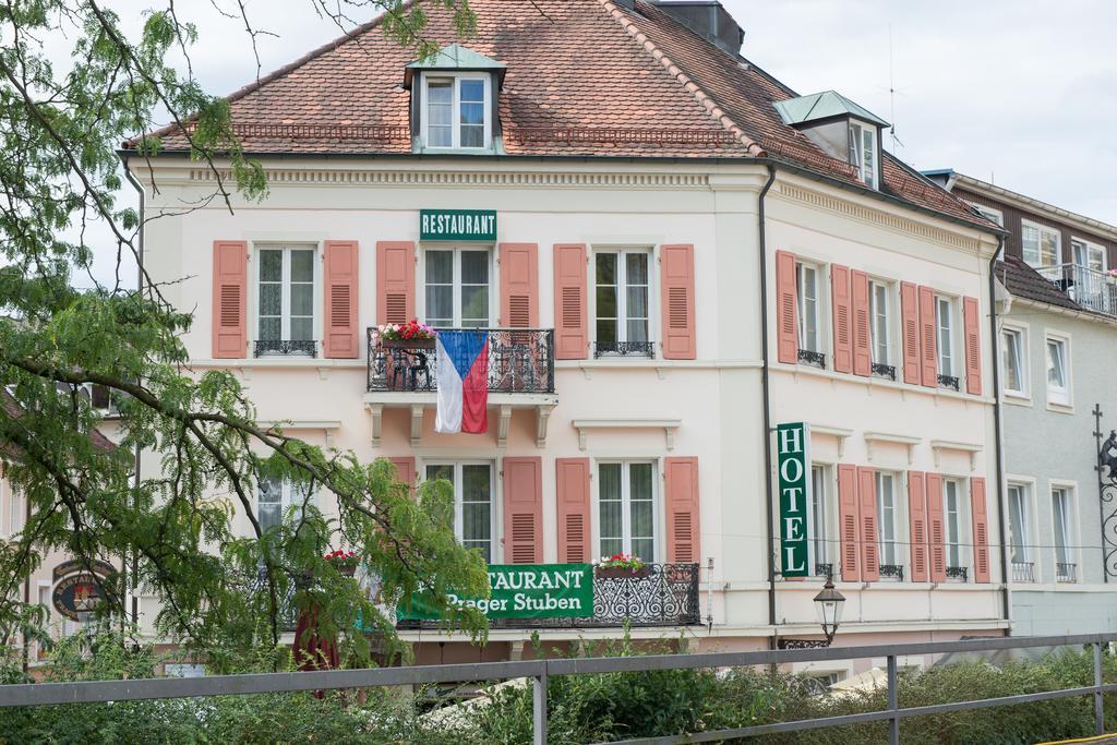
[[[953,168],[1117,223],[1117,3],[723,1],[745,29],[746,57],[800,94],[833,88],[892,122],[899,142],[886,136],[886,146],[916,168]],[[133,28],[142,9],[160,4],[109,2]],[[264,74],[340,35],[312,0],[246,7],[278,35],[258,39]],[[178,10],[198,23],[192,63],[207,90],[223,95],[255,79],[239,21],[203,0]]]

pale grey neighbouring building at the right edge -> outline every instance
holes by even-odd
[[[996,276],[1009,308],[1000,329],[1013,633],[1113,629],[1117,504],[1101,499],[1095,432],[1117,429],[1117,228],[953,171],[928,175],[1009,231]]]

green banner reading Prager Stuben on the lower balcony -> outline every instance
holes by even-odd
[[[591,618],[593,615],[593,564],[493,564],[488,569],[488,598],[449,601],[476,608],[490,619]],[[413,595],[408,608],[399,608],[401,621],[437,619],[422,595]]]

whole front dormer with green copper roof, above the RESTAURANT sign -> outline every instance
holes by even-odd
[[[503,152],[496,97],[504,63],[451,44],[404,68],[416,152]]]

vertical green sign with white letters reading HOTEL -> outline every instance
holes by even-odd
[[[810,575],[810,543],[806,537],[811,494],[810,426],[804,422],[775,428],[780,470],[780,563],[783,576]]]

